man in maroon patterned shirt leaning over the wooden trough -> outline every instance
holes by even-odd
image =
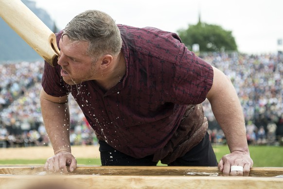
[[[86,11],[57,35],[58,65],[45,64],[40,94],[54,156],[45,169],[76,168],[71,154],[68,95],[97,133],[102,165],[217,166],[201,103],[208,98],[230,154],[220,171],[248,175],[245,122],[227,76],[156,28],[116,25]]]

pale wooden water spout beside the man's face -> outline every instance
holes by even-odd
[[[0,0],[0,17],[51,66],[59,56],[55,34],[21,1]]]

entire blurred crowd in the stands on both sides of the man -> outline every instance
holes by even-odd
[[[275,54],[237,53],[200,57],[230,77],[243,107],[249,144],[274,144],[276,130],[283,125],[282,59]],[[0,147],[50,145],[39,104],[43,66],[39,61],[0,64]],[[95,133],[71,95],[69,101],[71,145],[96,145]],[[209,122],[215,123],[207,100],[203,107]],[[220,128],[209,132],[213,143],[225,144]]]

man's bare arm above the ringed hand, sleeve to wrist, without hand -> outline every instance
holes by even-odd
[[[236,91],[228,77],[219,70],[214,73],[215,93],[208,97],[213,114],[225,133],[230,151],[248,152],[244,114]]]

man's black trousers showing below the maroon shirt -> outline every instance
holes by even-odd
[[[153,155],[140,159],[126,155],[109,146],[105,141],[99,141],[101,164],[103,166],[156,166],[158,162],[153,162]],[[202,141],[184,156],[177,158],[168,166],[217,166],[215,153],[206,133]]]

